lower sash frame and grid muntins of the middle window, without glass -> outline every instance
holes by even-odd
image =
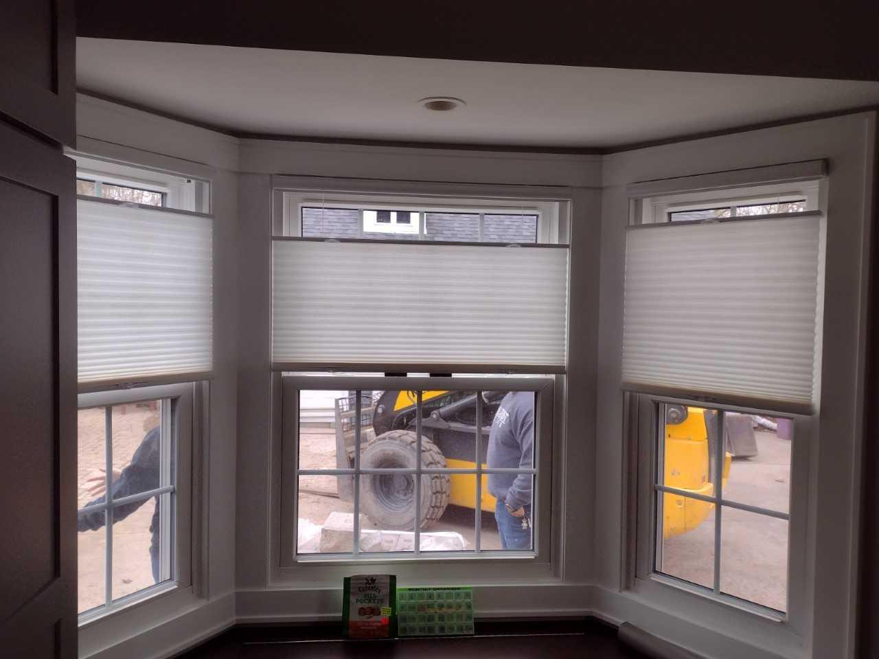
[[[291,567],[298,563],[350,563],[361,564],[363,561],[424,561],[424,560],[483,560],[483,559],[531,559],[547,561],[549,554],[551,515],[550,493],[552,491],[552,438],[553,438],[553,392],[556,381],[553,378],[514,378],[514,377],[404,377],[404,376],[323,376],[323,375],[286,375],[280,378],[280,413],[281,453],[280,464],[281,491],[279,500],[280,512],[280,567]],[[401,390],[401,391],[533,391],[536,396],[534,407],[534,467],[531,469],[498,469],[481,467],[483,456],[476,456],[474,469],[431,469],[418,463],[418,468],[410,469],[362,469],[360,468],[360,431],[355,434],[355,467],[352,469],[299,469],[299,392],[309,390]],[[418,396],[420,398],[420,394]],[[354,418],[360,420],[360,396],[356,397],[357,408]],[[416,437],[418,438],[418,454],[420,455],[421,419],[416,419]],[[360,423],[356,424],[360,428]],[[480,443],[476,443],[477,451],[481,451]],[[464,550],[457,552],[368,552],[366,554],[297,554],[297,519],[298,519],[298,482],[299,475],[338,475],[338,474],[371,474],[371,473],[421,473],[421,474],[487,474],[487,473],[534,473],[536,474],[533,491],[533,550],[516,552],[511,550],[495,551]],[[537,474],[540,472],[540,474]],[[481,495],[482,478],[477,475],[477,496]],[[415,489],[420,497],[420,488]],[[359,489],[354,489],[354,506],[358,509]],[[477,499],[478,500],[478,499]],[[419,501],[416,502],[418,506]],[[417,507],[416,510],[419,510]],[[476,514],[476,521],[481,514]],[[353,537],[359,538],[360,519],[354,516]],[[481,525],[476,525],[476,547],[479,547]],[[355,543],[356,546],[356,543]],[[415,532],[414,549],[419,549],[418,531]]]

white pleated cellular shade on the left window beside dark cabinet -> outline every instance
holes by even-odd
[[[76,205],[79,381],[210,371],[211,220]]]

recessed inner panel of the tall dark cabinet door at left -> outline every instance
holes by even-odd
[[[0,463],[0,519],[18,541],[0,546],[0,565],[16,565],[0,602],[0,619],[16,602],[30,599],[57,576],[54,465],[58,408],[54,309],[54,199],[0,179],[0,309],[15,309],[4,322],[4,378],[0,409],[9,444]],[[24,275],[24,276],[23,276]],[[14,346],[14,349],[11,349]],[[7,350],[6,348],[10,348]],[[11,491],[7,491],[11,490]]]

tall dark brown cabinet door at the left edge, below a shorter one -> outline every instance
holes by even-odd
[[[76,656],[75,176],[0,122],[4,656]]]

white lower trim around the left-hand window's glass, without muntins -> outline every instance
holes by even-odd
[[[146,604],[157,597],[164,597],[183,590],[194,592],[199,589],[198,582],[201,580],[201,575],[198,570],[201,543],[199,534],[193,532],[193,528],[200,528],[200,525],[193,524],[200,518],[200,500],[195,492],[196,488],[193,487],[200,482],[200,469],[197,468],[193,471],[193,466],[200,467],[196,456],[201,444],[200,432],[198,432],[200,429],[198,415],[200,414],[201,395],[197,387],[198,385],[193,384],[160,385],[78,395],[78,409],[131,402],[149,402],[159,399],[171,400],[173,407],[163,411],[163,424],[166,421],[170,422],[169,431],[175,433],[173,447],[177,451],[174,469],[176,474],[174,501],[177,504],[177,510],[174,515],[174,528],[171,529],[170,524],[168,526],[168,529],[172,531],[174,553],[176,554],[171,561],[170,579],[120,597],[109,604],[105,603],[80,613],[78,615],[80,628],[113,619],[120,613],[130,611],[135,606]],[[168,524],[167,516],[164,518],[164,524]],[[102,532],[104,529],[105,527],[102,527]],[[108,551],[112,551],[112,546],[108,545]],[[105,574],[109,572],[110,567],[107,564],[105,565]]]

